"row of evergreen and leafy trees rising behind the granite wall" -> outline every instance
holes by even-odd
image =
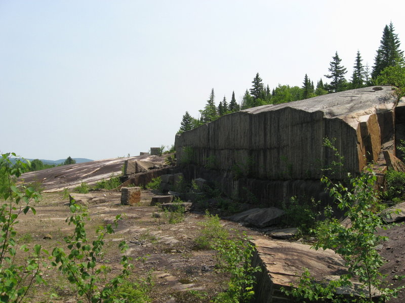
[[[199,110],[199,118],[192,117],[186,111],[177,133],[180,134],[187,130],[194,129],[229,113],[262,105],[287,103],[370,85],[390,84],[397,87],[404,87],[405,66],[403,51],[400,50],[399,46],[398,35],[395,33],[394,26],[391,22],[384,27],[372,70],[370,71],[368,64],[363,64],[361,54],[357,51],[350,80],[345,78],[347,70],[341,64],[342,60],[338,52],[336,52],[332,57],[332,61],[329,63],[329,73],[324,75],[326,78],[330,79],[329,83],[323,83],[322,79],[319,79],[315,86],[314,82],[305,74],[301,87],[278,84],[277,87],[270,91],[269,85],[267,84],[265,86],[259,73],[257,73],[253,78],[252,87],[246,89],[240,104],[236,102],[235,92],[232,91],[230,102],[228,103],[224,96],[218,106],[215,105],[215,93],[214,88],[212,88],[204,109]]]

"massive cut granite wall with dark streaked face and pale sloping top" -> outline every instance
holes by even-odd
[[[217,182],[236,199],[276,206],[296,194],[321,198],[321,168],[336,160],[324,138],[336,138],[344,156],[336,177],[356,174],[395,150],[396,103],[391,86],[378,86],[228,114],[177,135],[177,163],[186,178]]]

